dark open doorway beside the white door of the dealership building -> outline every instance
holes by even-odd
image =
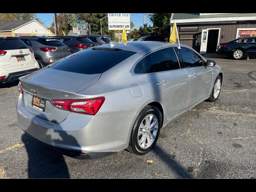
[[[208,30],[206,53],[216,53],[216,49],[218,46],[218,36],[219,36],[218,29]]]

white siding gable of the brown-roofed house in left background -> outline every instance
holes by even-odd
[[[29,33],[32,33],[32,30],[34,31],[34,34],[36,36],[40,36],[40,35],[48,36],[48,35],[50,35],[49,30],[47,30],[46,28],[44,28],[43,26],[38,24],[38,22],[36,22],[36,21],[32,21],[28,24],[25,24],[24,26],[21,26],[21,27],[17,28],[16,30],[13,30],[13,31],[14,31],[14,33],[29,34]]]

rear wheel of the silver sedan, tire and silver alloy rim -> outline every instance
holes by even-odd
[[[155,146],[162,125],[161,112],[147,105],[136,119],[130,135],[128,152],[144,155]]]

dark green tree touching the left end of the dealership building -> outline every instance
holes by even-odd
[[[149,14],[149,19],[154,24],[154,28],[157,35],[165,37],[170,36],[170,18],[171,13],[152,13]]]

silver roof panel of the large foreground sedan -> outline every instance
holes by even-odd
[[[145,50],[150,47],[156,47],[159,48],[160,46],[178,46],[177,44],[171,44],[170,42],[160,42],[160,41],[134,41],[134,42],[127,42],[125,45],[124,43],[118,43],[114,46],[111,46],[111,44],[96,46],[95,48],[112,48],[112,49],[122,49],[127,51],[133,51],[133,52],[140,52],[142,50]],[[183,44],[180,44],[182,46],[186,46]]]

